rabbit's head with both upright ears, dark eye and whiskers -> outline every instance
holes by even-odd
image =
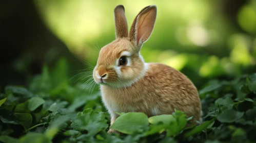
[[[141,47],[150,37],[156,19],[156,6],[142,9],[135,17],[128,35],[125,9],[114,9],[115,40],[105,45],[93,70],[96,83],[120,88],[132,85],[144,76],[147,64],[140,54]]]

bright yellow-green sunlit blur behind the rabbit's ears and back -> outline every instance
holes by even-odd
[[[129,28],[142,8],[157,6],[154,31],[141,50],[145,62],[160,62],[178,70],[193,68],[202,77],[238,75],[239,65],[255,65],[255,42],[217,15],[218,8],[212,7],[215,2],[34,1],[48,28],[74,55],[92,65],[99,50],[115,38],[113,9],[120,4],[125,7]],[[241,28],[250,33],[256,28],[253,2],[241,7],[237,15]]]

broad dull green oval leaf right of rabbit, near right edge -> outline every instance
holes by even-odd
[[[241,118],[244,112],[235,111],[233,109],[223,111],[219,116],[218,120],[222,123],[232,123]]]

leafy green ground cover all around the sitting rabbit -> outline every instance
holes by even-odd
[[[191,117],[178,110],[149,118],[119,113],[111,128],[120,136],[106,132],[110,118],[99,91],[69,84],[66,69],[62,59],[53,70],[44,66],[29,86],[5,87],[0,95],[1,142],[256,142],[256,73],[210,80],[199,89],[204,112],[199,126],[185,128]]]

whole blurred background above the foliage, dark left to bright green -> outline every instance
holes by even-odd
[[[27,85],[43,65],[67,61],[74,83],[96,64],[98,49],[115,38],[113,10],[122,4],[128,26],[148,5],[157,6],[154,31],[143,45],[146,62],[170,65],[201,88],[209,79],[256,71],[256,1],[0,2],[1,87]],[[81,59],[81,60],[80,60]],[[63,72],[63,73],[62,73]],[[80,74],[80,75],[76,75]],[[76,75],[76,76],[75,76]],[[79,79],[78,82],[86,80]]]

